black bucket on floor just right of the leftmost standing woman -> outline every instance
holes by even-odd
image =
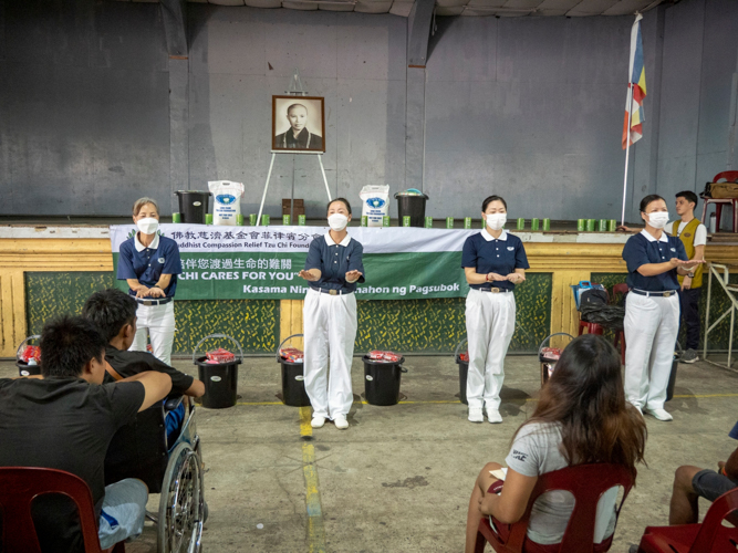
[[[207,363],[207,356],[196,357],[197,348],[208,338],[228,338],[240,353],[240,357],[230,363]],[[193,352],[193,363],[197,365],[197,374],[205,384],[205,395],[202,396],[202,407],[208,409],[225,409],[233,407],[238,399],[238,366],[243,359],[241,345],[226,334],[210,334],[205,336],[195,346]]]

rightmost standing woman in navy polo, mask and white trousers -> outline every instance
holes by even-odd
[[[679,281],[703,260],[689,260],[682,240],[664,232],[666,201],[652,194],[641,200],[646,228],[623,248],[630,293],[625,302],[625,397],[640,411],[672,420],[664,409],[679,331]]]

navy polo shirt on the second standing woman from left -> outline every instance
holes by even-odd
[[[311,282],[312,288],[354,292],[356,284],[364,282],[364,247],[349,234],[341,243],[335,243],[330,233],[315,238],[310,243],[305,271],[319,269],[321,278]],[[349,271],[360,271],[362,275],[354,283],[346,282]]]

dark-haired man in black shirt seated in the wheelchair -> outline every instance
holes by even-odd
[[[170,367],[148,352],[128,351],[136,335],[137,306],[132,296],[115,289],[95,292],[84,304],[82,314],[95,323],[97,330],[107,340],[105,361],[108,366],[105,382],[114,382],[144,371],[158,371],[171,377],[173,394],[202,396],[205,384],[201,380]],[[180,406],[167,415],[168,435],[177,430],[184,414],[184,406]]]

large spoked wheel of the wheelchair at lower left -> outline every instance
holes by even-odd
[[[198,553],[204,523],[199,456],[181,442],[169,455],[162,484],[158,520],[159,553]]]

